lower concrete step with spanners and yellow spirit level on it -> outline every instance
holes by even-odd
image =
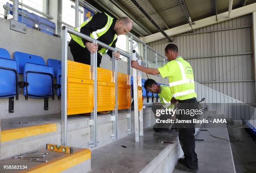
[[[41,148],[38,150],[40,150],[38,153],[48,153],[48,155],[45,157],[38,158],[40,161],[47,160],[47,162],[29,161],[28,159],[20,158],[10,158],[5,161],[0,160],[0,172],[87,173],[91,170],[91,151],[89,149],[73,148],[72,154],[46,150],[46,148]],[[13,168],[11,167],[12,165]],[[16,166],[16,168],[14,166]]]

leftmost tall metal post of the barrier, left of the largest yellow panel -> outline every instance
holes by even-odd
[[[67,145],[67,29],[61,38],[61,145]]]

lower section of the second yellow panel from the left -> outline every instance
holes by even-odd
[[[115,83],[98,81],[97,111],[114,110]]]

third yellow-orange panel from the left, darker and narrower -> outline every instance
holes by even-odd
[[[128,109],[131,106],[131,85],[129,76],[118,73],[118,110]]]

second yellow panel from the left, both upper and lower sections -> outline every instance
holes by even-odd
[[[97,111],[115,109],[115,83],[113,71],[97,68]]]

